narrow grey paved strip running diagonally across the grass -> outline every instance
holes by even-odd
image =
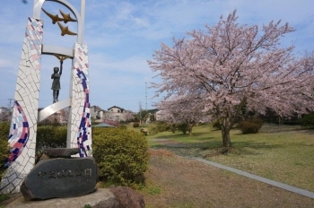
[[[287,191],[291,191],[291,192],[299,194],[299,195],[305,195],[305,196],[308,196],[308,197],[314,199],[314,193],[313,192],[310,192],[310,191],[305,190],[305,189],[301,189],[299,187],[283,184],[283,183],[280,183],[280,182],[277,182],[275,180],[271,180],[271,179],[268,179],[268,178],[258,177],[257,175],[254,175],[254,174],[242,171],[240,169],[233,169],[231,167],[224,166],[222,164],[219,164],[219,163],[216,163],[216,162],[213,162],[213,161],[210,161],[210,160],[204,160],[202,158],[195,158],[195,157],[192,157],[192,159],[204,162],[205,164],[212,165],[212,166],[220,168],[220,169],[226,169],[226,170],[229,170],[231,172],[237,173],[237,174],[239,174],[241,176],[252,178],[252,179],[258,180],[260,182],[263,182],[263,183],[266,183],[266,184],[269,184],[269,185],[272,185],[272,186],[280,187],[280,188],[283,188],[283,189],[285,189]]]

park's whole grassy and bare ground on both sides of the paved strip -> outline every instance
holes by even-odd
[[[258,134],[231,131],[223,153],[220,132],[196,126],[192,136],[148,136],[149,169],[139,190],[146,207],[314,207],[314,199],[218,169],[201,157],[314,192],[314,130],[265,125]]]

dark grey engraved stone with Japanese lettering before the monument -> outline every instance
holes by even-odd
[[[40,160],[22,182],[21,192],[26,200],[87,195],[95,190],[97,180],[92,157]]]

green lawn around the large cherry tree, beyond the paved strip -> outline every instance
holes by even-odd
[[[210,125],[192,136],[163,132],[147,136],[151,148],[202,157],[261,177],[314,191],[314,130],[264,125],[257,134],[231,130],[231,151],[222,154],[222,134]]]

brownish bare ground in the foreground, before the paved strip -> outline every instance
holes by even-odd
[[[166,150],[150,150],[147,208],[155,207],[314,207],[314,200],[188,160]]]

